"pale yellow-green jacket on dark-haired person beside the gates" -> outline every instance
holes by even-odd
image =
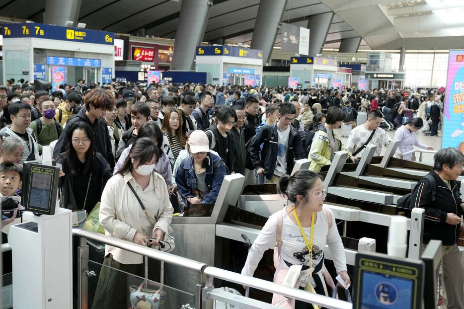
[[[337,151],[345,149],[343,146],[340,137],[333,132],[333,138],[336,143],[338,143]],[[309,166],[309,170],[314,172],[319,172],[322,166],[330,165],[332,162],[330,161],[331,150],[329,146],[329,138],[327,135],[327,129],[325,128],[324,124],[322,123],[311,144],[311,150],[309,151],[308,159],[311,161],[311,165]],[[351,156],[351,153],[348,153],[348,157]]]

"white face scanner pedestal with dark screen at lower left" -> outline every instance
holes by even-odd
[[[57,208],[59,167],[23,165],[24,223],[9,230],[13,308],[72,308],[72,212]]]

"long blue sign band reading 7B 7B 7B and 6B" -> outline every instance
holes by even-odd
[[[68,28],[34,22],[2,25],[3,39],[41,38],[78,43],[114,45],[114,33],[82,28]]]

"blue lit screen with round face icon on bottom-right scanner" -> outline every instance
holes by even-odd
[[[411,279],[363,271],[361,274],[361,308],[412,308]]]

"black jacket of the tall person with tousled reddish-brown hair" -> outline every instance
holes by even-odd
[[[113,151],[111,150],[111,140],[108,133],[108,127],[106,122],[103,119],[96,119],[92,124],[90,120],[85,115],[85,109],[82,108],[79,113],[71,120],[68,120],[64,132],[60,135],[55,149],[53,151],[53,157],[58,158],[61,153],[64,153],[66,150],[66,145],[69,143],[71,138],[69,128],[75,122],[83,121],[86,122],[93,129],[93,142],[95,145],[95,151],[100,153],[111,168],[114,167],[114,157]]]

